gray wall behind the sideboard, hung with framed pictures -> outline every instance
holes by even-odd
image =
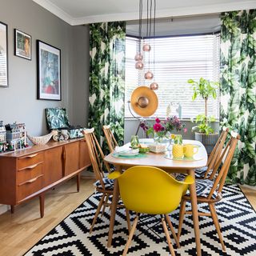
[[[85,126],[88,106],[89,32],[72,27],[31,0],[2,0],[8,25],[9,87],[0,87],[0,120],[25,122],[29,134],[46,134],[46,107],[65,106],[74,125]],[[32,36],[32,61],[14,56],[14,28]],[[62,101],[37,100],[36,39],[61,49]]]

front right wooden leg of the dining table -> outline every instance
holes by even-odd
[[[188,173],[194,178],[194,170],[188,170]],[[198,200],[197,200],[197,191],[194,184],[190,185],[190,198],[191,198],[191,207],[193,214],[193,223],[194,223],[194,238],[197,248],[197,255],[201,256],[201,243],[200,243],[200,230],[198,222]]]

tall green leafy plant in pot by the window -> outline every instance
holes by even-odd
[[[214,122],[213,116],[208,116],[207,102],[210,97],[214,99],[217,97],[218,82],[211,82],[207,79],[200,78],[198,82],[193,79],[188,80],[192,86],[194,101],[198,96],[201,96],[205,102],[205,113],[198,114],[192,122],[197,123],[197,126],[192,127],[195,134],[195,139],[206,147],[207,154],[213,150],[215,143],[218,141],[218,133],[210,126],[210,122]]]

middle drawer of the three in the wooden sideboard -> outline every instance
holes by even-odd
[[[43,162],[35,163],[34,165],[27,166],[26,168],[18,171],[17,173],[17,185],[31,180],[32,178],[38,177],[43,174]]]

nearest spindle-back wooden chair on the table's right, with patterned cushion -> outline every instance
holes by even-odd
[[[221,157],[218,158],[218,162],[214,166],[215,180],[210,179],[196,179],[196,190],[198,203],[208,203],[210,213],[198,212],[199,216],[211,216],[216,227],[218,238],[222,244],[222,250],[226,251],[226,246],[223,242],[222,231],[218,222],[218,216],[215,210],[215,203],[222,200],[222,188],[224,186],[226,175],[230,168],[230,162],[234,155],[234,150],[237,146],[238,140],[240,139],[239,134],[231,133],[230,141],[226,144],[225,149],[222,151]],[[224,160],[223,164],[222,161]],[[218,171],[218,167],[222,164],[222,168]],[[212,175],[212,174],[211,174]],[[182,197],[179,213],[179,226],[178,226],[178,239],[182,233],[182,223],[185,214],[192,214],[191,211],[186,211],[186,201],[191,201],[190,194],[186,194]]]

